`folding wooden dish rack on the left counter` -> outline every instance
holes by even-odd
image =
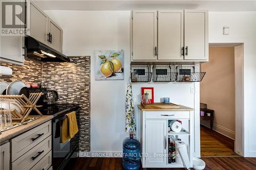
[[[11,100],[16,100],[17,102],[20,103],[20,105],[23,106],[23,113],[20,114],[16,109],[10,110],[12,113],[12,120],[14,121],[20,121],[20,123],[24,123],[25,119],[28,117],[30,112],[34,109],[40,116],[42,116],[42,113],[37,109],[36,102],[39,100],[40,96],[43,93],[30,93],[29,94],[29,99],[24,95],[0,95],[0,99],[2,101],[9,101]],[[5,112],[5,111],[1,111]]]

